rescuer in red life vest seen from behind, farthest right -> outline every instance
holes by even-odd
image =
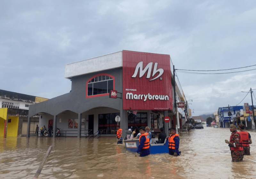
[[[240,128],[240,135],[242,137],[242,145],[244,148],[244,155],[250,155],[250,145],[252,144],[251,135],[249,132],[244,131],[244,124],[239,124],[238,126]]]

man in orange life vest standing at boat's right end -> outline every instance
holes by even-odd
[[[170,137],[166,137],[169,143],[169,154],[174,155],[175,157],[180,155],[179,146],[180,146],[180,138],[179,134],[176,134],[176,129],[171,128],[171,135]]]

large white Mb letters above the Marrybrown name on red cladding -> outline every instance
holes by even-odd
[[[159,78],[163,73],[164,73],[164,69],[163,68],[159,68],[157,69],[157,64],[158,63],[155,63],[154,64],[154,69],[153,69],[153,73],[152,73],[152,77],[158,72],[159,74],[149,80],[149,81],[152,81],[152,80],[155,80],[156,78]],[[132,75],[133,78],[135,78],[139,72],[139,77],[141,78],[145,73],[146,71],[148,71],[147,73],[147,78],[150,78],[150,74],[151,74],[151,71],[152,71],[152,66],[153,66],[153,62],[150,62],[148,63],[148,65],[143,69],[143,61],[139,62],[135,68],[135,71],[134,71],[134,74]],[[139,71],[140,70],[140,71]],[[160,78],[161,79],[161,78]]]

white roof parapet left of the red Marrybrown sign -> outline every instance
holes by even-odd
[[[79,62],[67,64],[65,66],[65,78],[99,72],[103,70],[118,68],[123,66],[123,51],[110,53],[100,57],[90,58]]]

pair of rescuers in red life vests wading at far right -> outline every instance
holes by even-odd
[[[250,144],[252,144],[251,135],[244,131],[244,124],[239,124],[240,132],[236,130],[235,124],[230,124],[231,136],[225,143],[230,147],[232,162],[242,161],[244,155],[250,155]]]

